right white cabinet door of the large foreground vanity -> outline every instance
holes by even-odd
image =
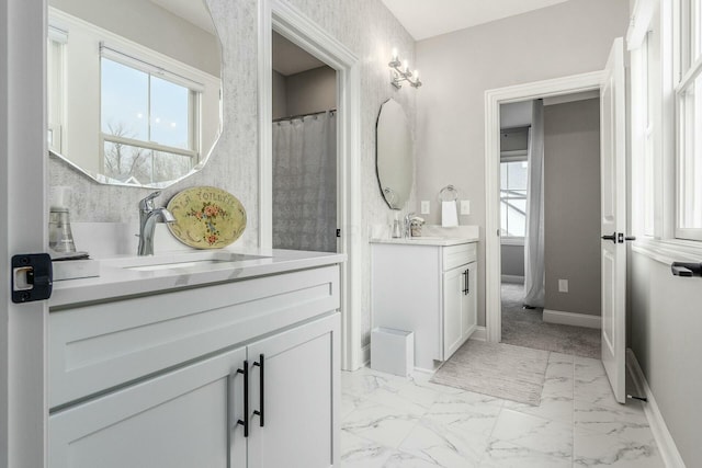
[[[251,468],[339,463],[339,317],[333,313],[248,346],[249,363],[256,363],[249,377],[251,411],[262,413],[251,415]]]

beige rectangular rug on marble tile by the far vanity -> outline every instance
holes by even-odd
[[[468,340],[431,381],[537,407],[547,364],[547,351]]]

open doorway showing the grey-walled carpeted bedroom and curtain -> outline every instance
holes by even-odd
[[[600,100],[500,105],[503,343],[600,358]]]

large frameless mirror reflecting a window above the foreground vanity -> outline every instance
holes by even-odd
[[[166,187],[222,130],[222,53],[204,0],[49,0],[50,153],[93,180]]]

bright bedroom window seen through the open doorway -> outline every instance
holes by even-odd
[[[500,217],[502,238],[523,238],[526,231],[526,180],[529,163],[500,162]]]

